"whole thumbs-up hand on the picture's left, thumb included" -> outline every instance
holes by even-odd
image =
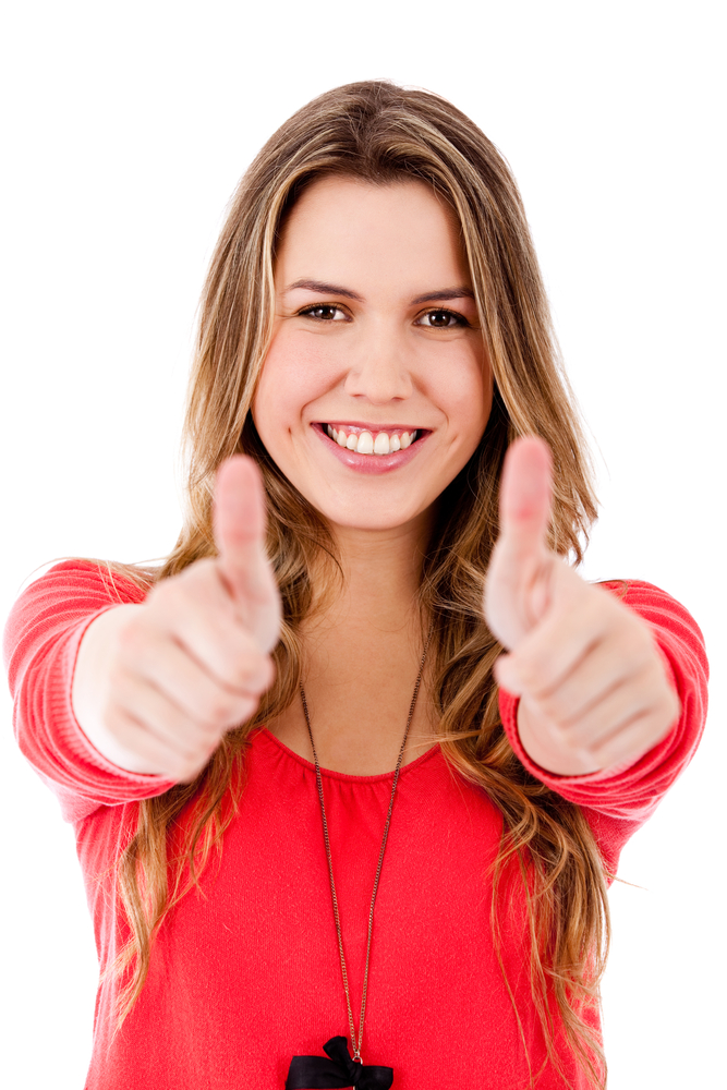
[[[280,597],[265,556],[259,471],[225,462],[215,497],[216,559],[163,580],[142,605],[102,614],[84,635],[73,685],[81,727],[110,761],[181,783],[272,682]]]

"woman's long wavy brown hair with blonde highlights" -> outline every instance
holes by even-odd
[[[420,600],[434,626],[438,737],[447,760],[484,788],[502,815],[493,879],[493,938],[502,967],[497,892],[514,865],[525,894],[533,1002],[547,1042],[545,1063],[549,1058],[562,1074],[555,1015],[590,1083],[602,1087],[606,1067],[593,1014],[608,949],[609,875],[579,807],[531,776],[512,752],[493,678],[501,647],[482,617],[508,444],[519,435],[538,435],[548,443],[555,472],[550,545],[578,560],[596,516],[586,446],[508,166],[477,126],[445,99],[380,81],[328,92],[275,133],[240,182],[211,258],[185,424],[184,525],[163,567],[126,573],[149,583],[214,556],[215,472],[234,452],[251,455],[265,479],[268,549],[283,603],[282,632],[274,653],[277,680],[257,714],[226,736],[195,783],[140,803],[137,829],[117,870],[131,925],[131,940],[114,966],[126,978],[119,1018],[123,1020],[140,994],[154,936],[168,912],[197,882],[210,853],[221,850],[235,798],[244,789],[243,755],[251,730],[295,699],[300,627],[313,601],[311,572],[322,556],[335,559],[324,519],[271,460],[251,415],[271,336],[281,226],[303,190],[330,174],[373,184],[424,181],[449,204],[461,227],[495,396],[477,450],[441,497],[423,561]],[[183,810],[183,850],[172,858],[171,832],[179,831]],[[525,1043],[517,1007],[516,1016]],[[531,1069],[533,1085],[537,1074]]]

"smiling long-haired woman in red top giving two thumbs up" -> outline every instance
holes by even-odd
[[[589,461],[516,184],[338,88],[213,257],[189,510],[7,631],[101,962],[87,1088],[596,1087],[606,891],[689,763],[699,629],[583,582]]]

